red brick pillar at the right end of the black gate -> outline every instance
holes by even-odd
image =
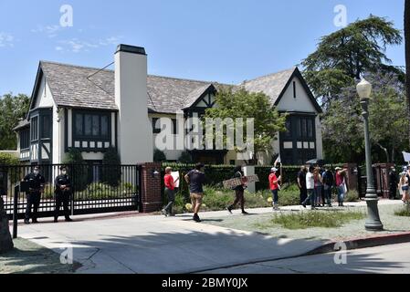
[[[152,172],[160,172],[153,175]],[[142,213],[151,213],[161,210],[163,197],[161,195],[161,163],[144,163],[142,175]]]

